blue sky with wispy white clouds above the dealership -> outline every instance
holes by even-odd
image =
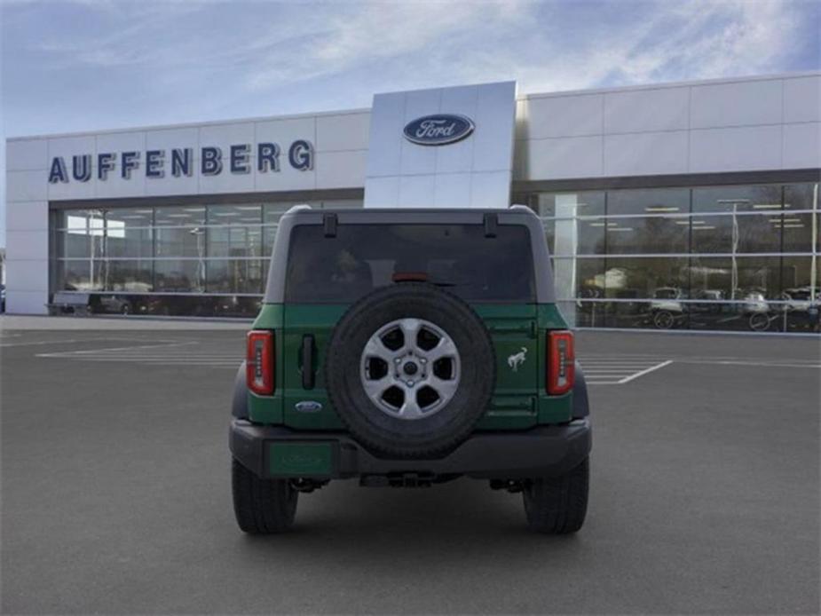
[[[819,33],[821,3],[801,0],[0,0],[0,136],[370,107],[375,92],[509,79],[531,93],[817,70]]]

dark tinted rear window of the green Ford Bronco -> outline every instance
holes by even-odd
[[[471,302],[534,302],[524,225],[321,225],[291,232],[285,301],[347,304],[396,280],[420,279]]]

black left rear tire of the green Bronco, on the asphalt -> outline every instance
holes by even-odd
[[[294,524],[299,493],[288,479],[261,479],[231,462],[233,513],[249,534],[284,533]]]

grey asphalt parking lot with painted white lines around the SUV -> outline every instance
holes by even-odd
[[[588,521],[460,480],[233,521],[240,329],[4,328],[4,613],[816,613],[817,337],[582,332]]]

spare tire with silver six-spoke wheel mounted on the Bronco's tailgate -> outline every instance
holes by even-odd
[[[363,446],[390,457],[435,457],[484,415],[495,370],[490,335],[468,304],[404,282],[345,312],[328,342],[325,383]]]

